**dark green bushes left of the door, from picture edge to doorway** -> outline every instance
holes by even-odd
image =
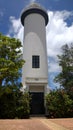
[[[0,95],[0,119],[29,118],[29,93],[5,92]]]

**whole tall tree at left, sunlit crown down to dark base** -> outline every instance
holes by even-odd
[[[0,118],[16,116],[24,64],[21,47],[18,39],[0,34]]]

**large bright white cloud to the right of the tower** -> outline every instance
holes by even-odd
[[[47,25],[47,53],[53,61],[49,63],[49,72],[60,71],[58,66],[57,55],[61,53],[61,47],[73,42],[73,25],[69,26],[66,19],[73,15],[73,12],[68,11],[48,11],[49,23]]]

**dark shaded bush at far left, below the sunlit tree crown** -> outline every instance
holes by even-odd
[[[3,94],[0,96],[0,118],[11,118],[15,117],[16,110],[16,97],[15,92],[9,92],[10,90],[3,90]]]

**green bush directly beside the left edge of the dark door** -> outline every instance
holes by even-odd
[[[28,92],[20,93],[17,100],[16,113],[18,118],[28,118],[30,114],[30,95]]]

